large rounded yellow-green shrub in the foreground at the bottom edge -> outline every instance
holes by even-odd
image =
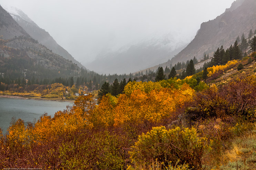
[[[139,136],[129,153],[131,160],[138,165],[157,159],[165,166],[170,162],[174,165],[188,163],[190,168],[201,169],[201,158],[209,148],[206,138],[197,137],[194,128],[181,130],[176,127],[166,130],[160,126]]]

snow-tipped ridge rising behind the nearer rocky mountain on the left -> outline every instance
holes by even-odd
[[[77,64],[80,68],[85,68],[81,63],[76,61],[64,48],[62,48],[53,37],[41,29],[35,24],[24,12],[14,7],[3,7],[12,18],[34,39],[38,40],[39,43],[45,45],[47,48],[52,50],[53,53],[62,56],[65,59],[71,60]]]

